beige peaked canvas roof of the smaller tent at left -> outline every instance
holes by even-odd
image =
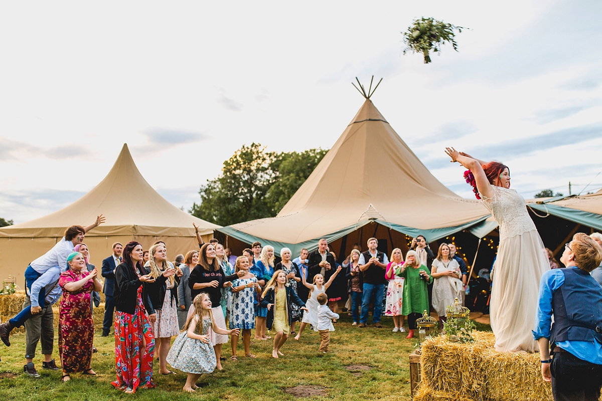
[[[90,192],[57,212],[0,228],[0,236],[62,236],[66,227],[92,224],[101,213],[107,222],[88,236],[194,236],[193,222],[202,235],[220,227],[182,212],[161,197],[140,174],[124,144],[111,171]]]

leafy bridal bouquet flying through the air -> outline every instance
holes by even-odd
[[[440,52],[441,45],[445,42],[452,43],[453,49],[458,51],[456,43],[456,32],[462,32],[462,26],[455,26],[451,23],[444,23],[432,18],[415,19],[413,25],[408,27],[408,31],[402,32],[403,42],[408,45],[403,51],[422,53],[424,55],[424,64],[430,63],[429,52]]]

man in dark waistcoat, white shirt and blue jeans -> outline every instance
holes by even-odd
[[[362,291],[362,312],[359,315],[359,327],[365,327],[368,322],[368,305],[374,301],[372,322],[374,327],[382,327],[380,314],[382,313],[382,300],[385,292],[385,269],[389,259],[382,252],[377,251],[378,240],[368,239],[368,250],[359,256],[359,271],[364,272],[364,288]]]

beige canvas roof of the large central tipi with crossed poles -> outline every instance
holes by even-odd
[[[488,216],[479,201],[459,197],[430,174],[372,101],[366,99],[276,217],[218,231],[244,242],[262,239],[278,245],[311,244],[320,237],[334,240],[377,221],[406,234],[424,233],[427,240],[435,240]]]

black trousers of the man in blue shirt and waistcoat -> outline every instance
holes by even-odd
[[[602,365],[580,360],[570,352],[554,352],[550,364],[554,401],[598,401]]]

